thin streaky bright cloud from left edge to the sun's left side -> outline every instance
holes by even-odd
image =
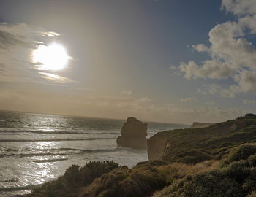
[[[31,53],[40,45],[51,42],[58,33],[24,23],[0,23],[1,82],[71,82],[56,73],[40,72]]]

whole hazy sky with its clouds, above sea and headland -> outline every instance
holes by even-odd
[[[34,60],[53,43],[64,69]],[[0,0],[0,109],[230,120],[256,113],[255,45],[255,0]]]

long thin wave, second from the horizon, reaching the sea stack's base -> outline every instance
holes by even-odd
[[[82,139],[0,139],[0,142],[59,142],[59,141],[84,141],[84,140],[102,140],[102,139],[116,139],[110,138],[82,138]]]

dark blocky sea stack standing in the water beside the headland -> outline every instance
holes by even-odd
[[[116,139],[117,145],[119,147],[146,149],[147,128],[148,123],[142,123],[135,117],[128,117],[127,122],[121,128],[121,136]]]

